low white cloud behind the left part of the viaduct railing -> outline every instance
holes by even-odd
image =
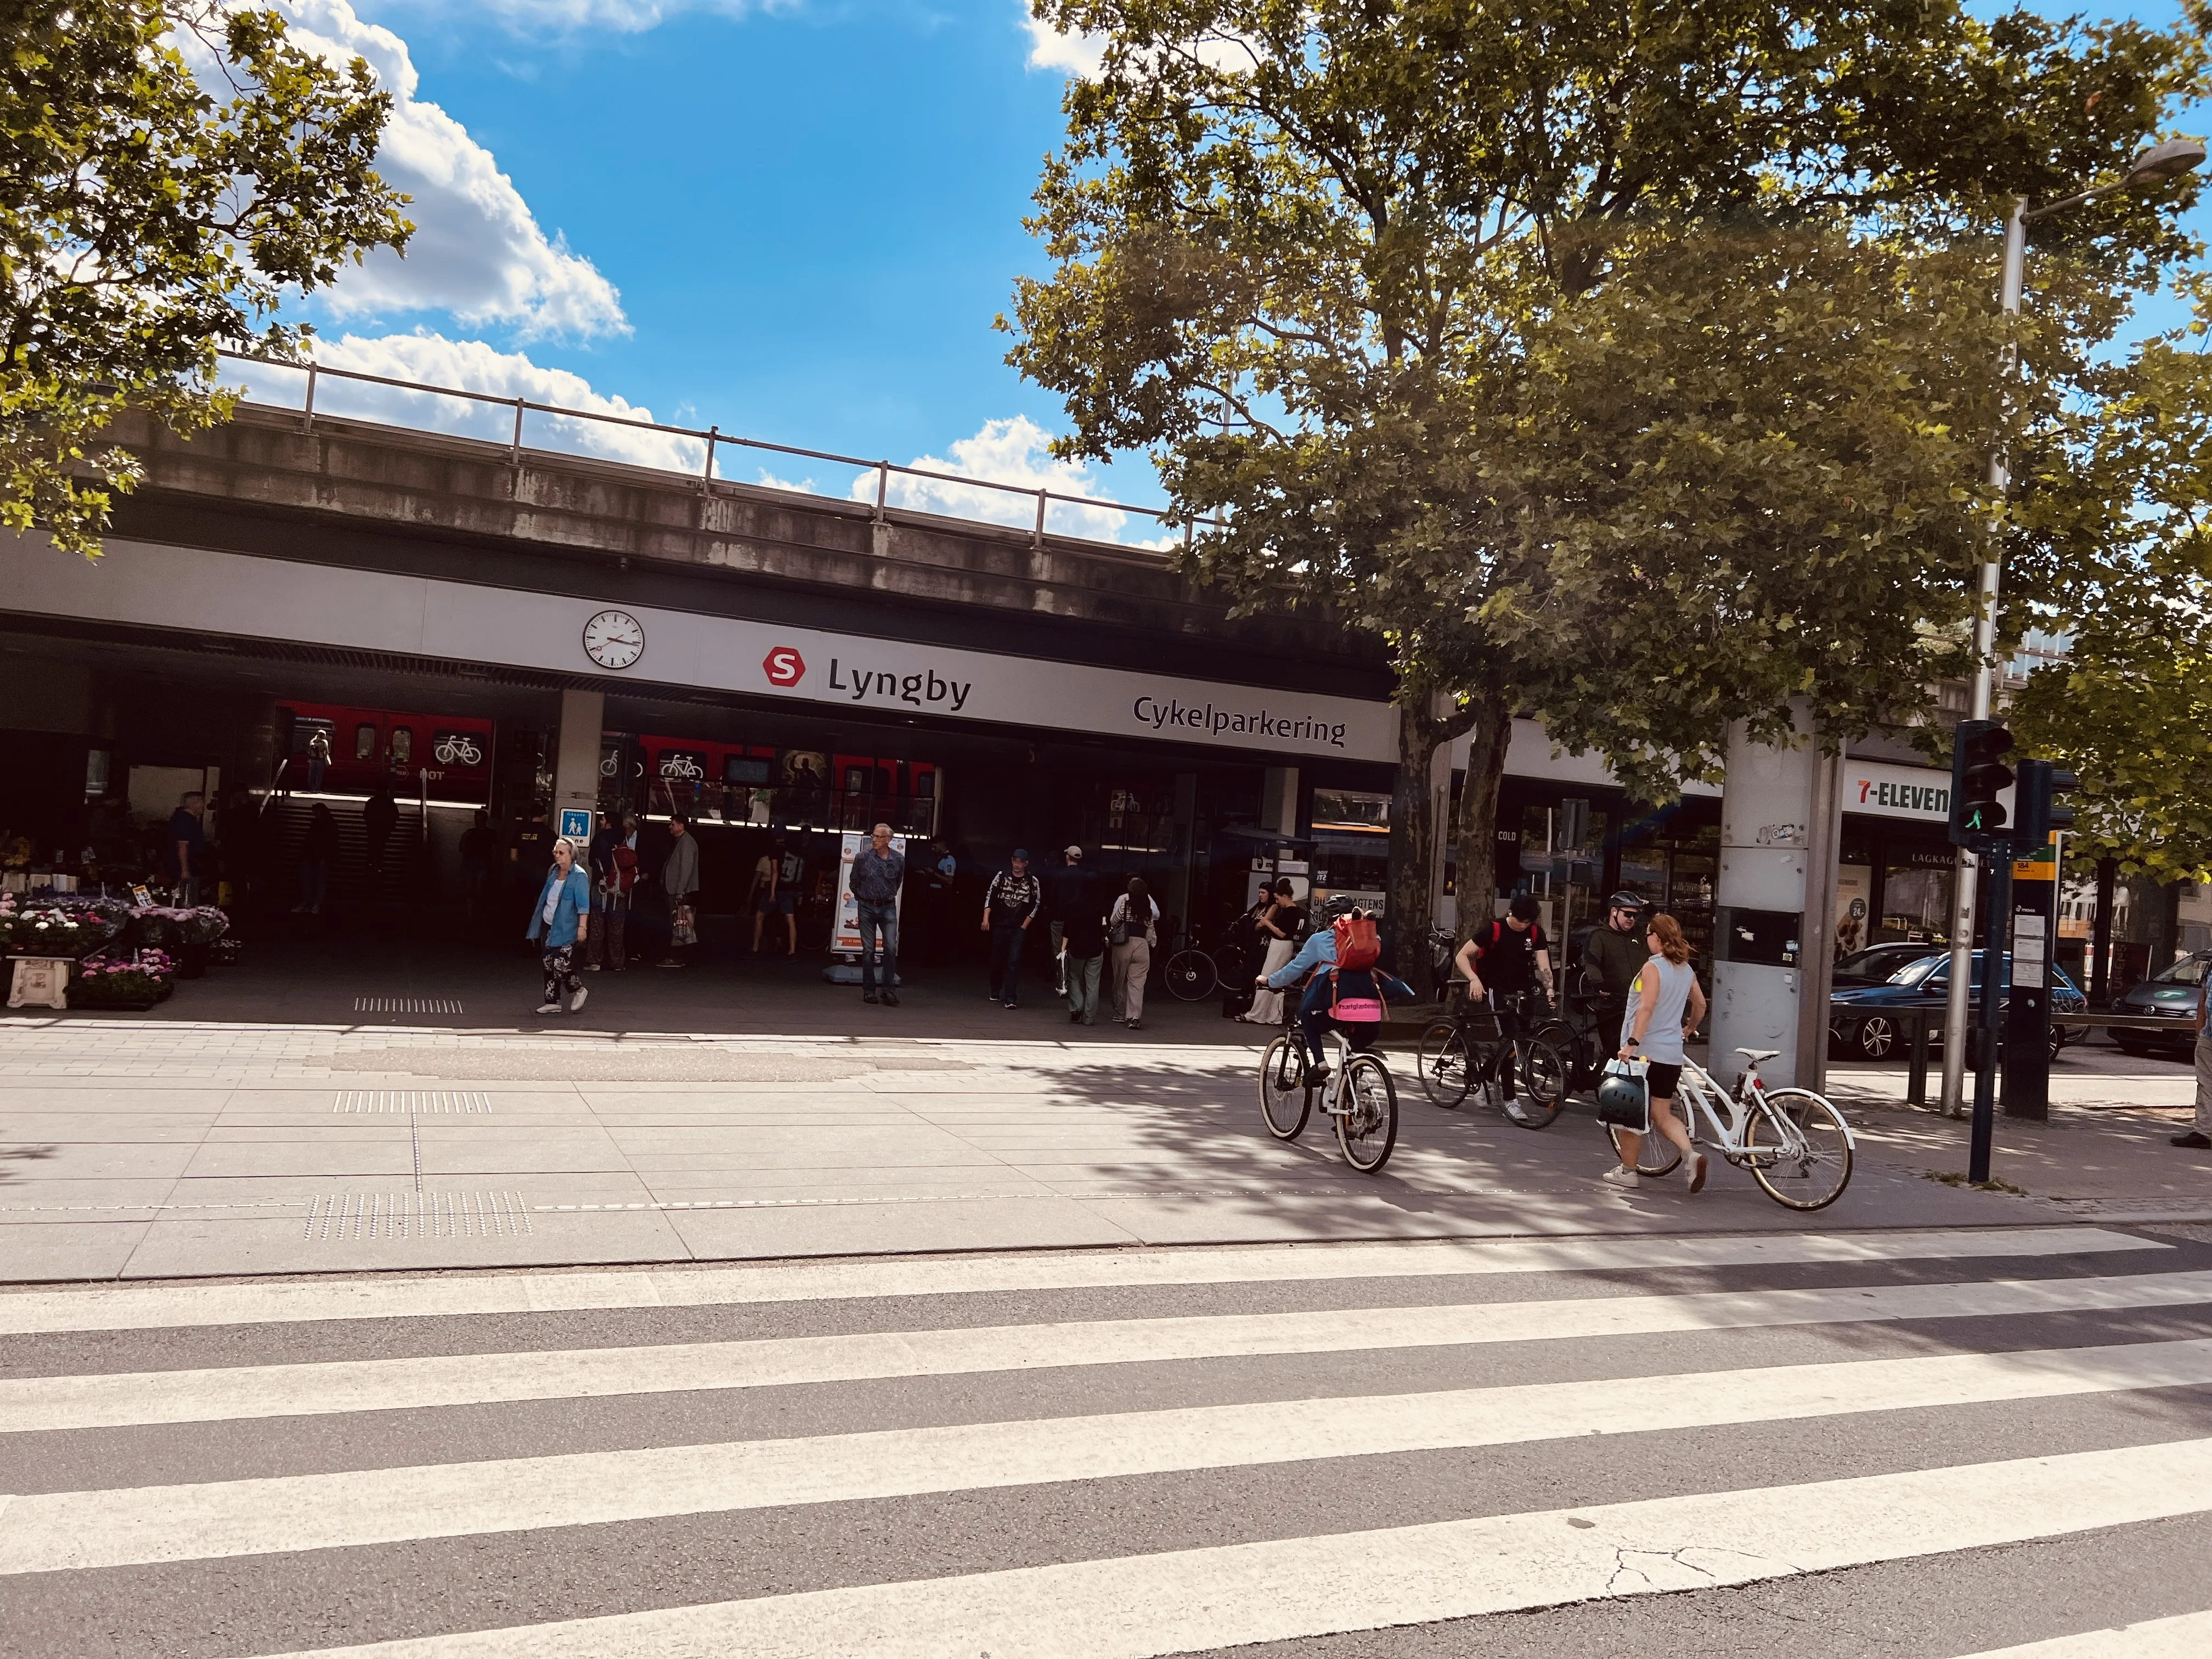
[[[557,449],[571,456],[602,456],[639,467],[697,473],[706,465],[706,445],[666,431],[641,431],[626,422],[650,422],[653,411],[628,398],[593,392],[591,380],[568,369],[551,369],[522,352],[500,352],[484,341],[449,341],[442,334],[385,334],[363,338],[314,341],[316,363],[356,374],[380,374],[392,380],[418,380],[480,392],[495,398],[529,398],[562,409],[586,409],[613,420],[582,420],[529,411],[522,422],[524,449]],[[226,380],[243,383],[252,403],[299,407],[307,376],[301,369],[228,363]],[[325,376],[314,389],[319,416],[354,416],[416,431],[451,431],[465,438],[513,442],[515,411],[495,403],[447,398],[436,392],[363,385]]]

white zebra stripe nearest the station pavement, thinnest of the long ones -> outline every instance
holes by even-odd
[[[1033,1290],[1321,1283],[1851,1261],[2048,1259],[2172,1250],[2104,1228],[1962,1228],[1721,1239],[1471,1239],[1451,1243],[1234,1245],[1044,1256],[836,1261],[679,1272],[314,1279],[283,1285],[95,1285],[0,1294],[0,1336],[181,1329],[332,1318],[449,1318],[615,1307],[962,1296]]]

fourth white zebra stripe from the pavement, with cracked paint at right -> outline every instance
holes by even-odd
[[[2205,1506],[2212,1440],[2179,1440],[803,1590],[321,1648],[314,1659],[1152,1659],[1787,1579]]]

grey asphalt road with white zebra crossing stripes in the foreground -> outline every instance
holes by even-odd
[[[2212,1245],[11,1290],[0,1486],[38,1659],[2203,1655]]]

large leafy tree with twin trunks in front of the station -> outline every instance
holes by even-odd
[[[1989,507],[1997,192],[2110,170],[2203,84],[2190,31],[1918,2],[1037,15],[1102,69],[1009,361],[1066,398],[1068,453],[1148,451],[1223,515],[1194,575],[1380,635],[1420,796],[1400,916],[1462,730],[1460,887],[1489,891],[1515,712],[1663,796],[1728,717],[1778,734],[1805,697],[1840,741],[1918,710]],[[2190,195],[2068,230],[2046,380],[2188,252]]]

